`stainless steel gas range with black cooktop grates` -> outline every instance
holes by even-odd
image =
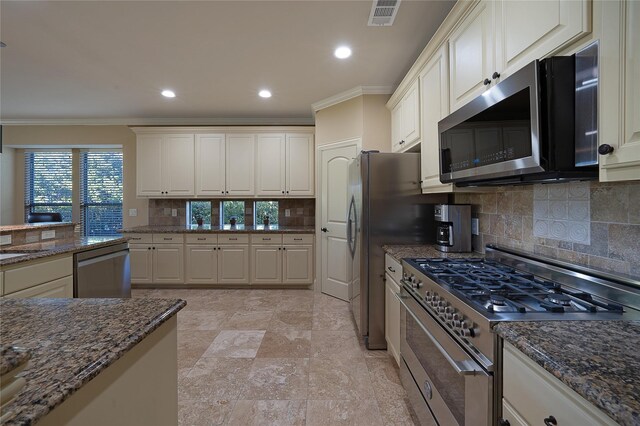
[[[501,321],[640,319],[640,282],[488,245],[403,259],[400,373],[424,425],[497,425]]]

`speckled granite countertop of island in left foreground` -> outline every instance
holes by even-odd
[[[20,373],[26,385],[3,410],[10,413],[4,424],[35,423],[185,305],[167,299],[0,299],[0,340],[31,352]]]

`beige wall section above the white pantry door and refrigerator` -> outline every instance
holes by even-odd
[[[389,152],[391,112],[389,95],[363,95],[316,112],[316,144],[361,138],[362,149]]]

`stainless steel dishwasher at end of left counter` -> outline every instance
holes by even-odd
[[[127,243],[83,251],[73,257],[73,297],[131,297]]]

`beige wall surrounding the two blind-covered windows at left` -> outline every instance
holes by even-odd
[[[94,145],[118,145],[123,153],[123,226],[146,225],[149,221],[147,199],[136,198],[136,136],[127,126],[4,126],[3,144],[19,147],[88,147]],[[0,191],[13,192],[9,197],[13,204],[12,220],[22,222],[24,202],[24,162],[22,150],[14,156],[15,178],[12,183],[2,180]],[[20,181],[20,182],[19,182]],[[129,217],[129,209],[138,210],[138,216]],[[4,224],[4,221],[3,221]]]

